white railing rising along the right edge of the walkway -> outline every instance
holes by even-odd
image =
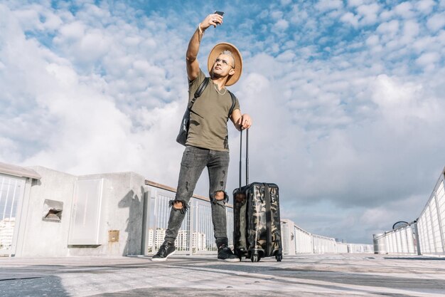
[[[374,234],[375,254],[445,255],[445,189],[442,170],[418,219],[398,229]]]

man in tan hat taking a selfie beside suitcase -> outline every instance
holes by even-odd
[[[216,27],[218,24],[223,24],[223,16],[208,15],[198,24],[198,28],[188,43],[186,65],[189,102],[205,79],[205,74],[201,71],[196,59],[200,41],[207,28]],[[210,52],[208,71],[210,73],[208,85],[192,108],[176,197],[170,203],[171,212],[166,236],[158,253],[152,257],[152,261],[165,261],[176,251],[174,241],[178,236],[178,229],[186,216],[188,202],[204,167],[208,167],[209,197],[215,241],[218,247],[218,260],[240,261],[228,246],[225,213],[225,202],[228,200],[225,185],[229,166],[227,120],[230,117],[237,130],[248,129],[252,125],[250,116],[241,114],[238,100],[235,100],[235,107],[232,108],[232,97],[225,88],[227,85],[236,83],[240,78],[242,71],[240,51],[230,43],[219,43]],[[231,108],[232,113],[229,115]]]

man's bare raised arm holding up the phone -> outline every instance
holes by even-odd
[[[218,24],[223,24],[223,16],[219,14],[209,14],[198,24],[198,28],[196,28],[195,33],[193,33],[188,43],[186,53],[187,76],[189,80],[195,80],[199,75],[199,64],[196,57],[198,56],[199,45],[205,30],[210,26],[216,27]]]

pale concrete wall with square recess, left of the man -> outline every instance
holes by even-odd
[[[23,198],[16,256],[127,256],[141,254],[145,179],[134,172],[74,176],[45,167]],[[77,180],[103,179],[100,244],[68,245]],[[45,199],[63,202],[61,222],[42,220]],[[148,209],[147,209],[148,210]],[[109,231],[119,238],[109,242]]]

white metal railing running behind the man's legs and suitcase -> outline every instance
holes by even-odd
[[[147,253],[154,254],[163,243],[170,214],[169,201],[175,199],[171,187],[146,181],[150,192],[149,231]],[[229,245],[233,245],[233,207],[226,204],[227,236]],[[289,219],[282,219],[283,254],[341,254],[372,253],[372,244],[347,244],[336,239],[311,234]],[[213,235],[210,200],[207,197],[193,195],[189,210],[181,225],[175,241],[179,254],[206,254],[217,250]]]

